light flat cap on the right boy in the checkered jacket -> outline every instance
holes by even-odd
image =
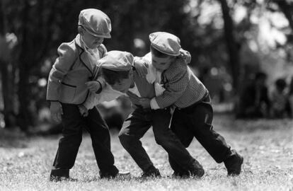
[[[180,55],[180,39],[176,35],[166,32],[156,32],[149,35],[151,46],[154,49],[170,56]]]

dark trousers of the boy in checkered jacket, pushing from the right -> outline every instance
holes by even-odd
[[[195,137],[217,163],[222,163],[236,153],[234,150],[231,151],[224,137],[213,130],[212,118],[211,99],[207,95],[199,103],[188,108],[176,108],[173,112],[171,129],[185,147],[190,146]],[[176,172],[183,173],[183,169],[172,156],[169,156],[169,162]]]

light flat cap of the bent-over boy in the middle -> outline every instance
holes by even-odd
[[[130,71],[133,64],[133,55],[130,52],[112,50],[99,59],[100,67],[113,71]]]

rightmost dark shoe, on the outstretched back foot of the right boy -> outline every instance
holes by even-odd
[[[236,153],[236,151],[235,151]],[[228,176],[235,176],[239,175],[241,173],[241,165],[243,163],[243,157],[240,154],[235,154],[234,156],[231,156],[227,158],[224,161],[224,164],[226,166],[226,169],[228,171]]]

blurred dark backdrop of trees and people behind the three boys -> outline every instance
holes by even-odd
[[[236,118],[292,117],[292,0],[1,0],[0,127],[61,131],[50,118],[47,77],[57,47],[77,34],[79,12],[112,21],[108,50],[149,52],[149,33],[180,37],[215,112]],[[131,112],[127,98],[98,105],[112,128]]]

